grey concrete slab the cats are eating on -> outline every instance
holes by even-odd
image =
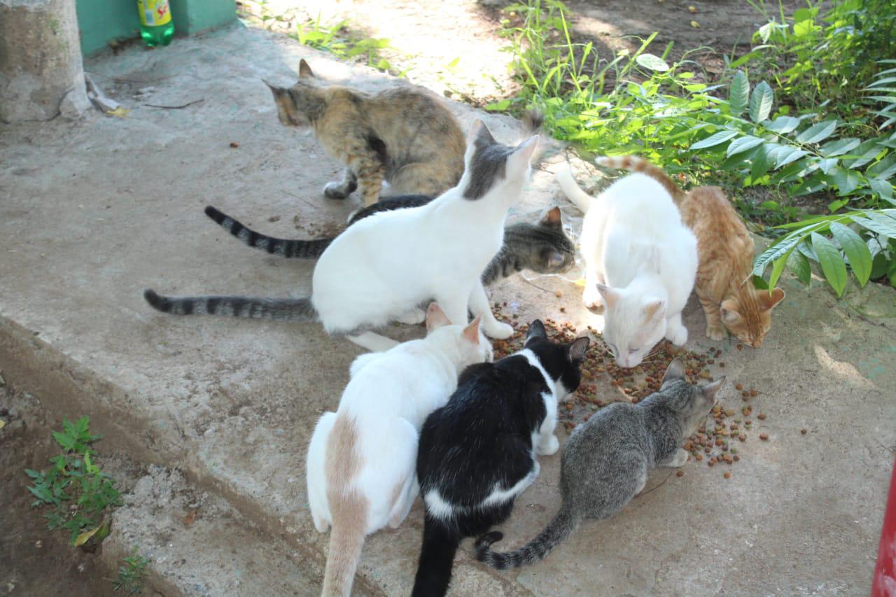
[[[313,264],[243,247],[202,214],[211,203],[256,229],[307,237],[340,229],[357,208],[357,198],[323,198],[339,165],[313,137],[280,126],[260,81],[289,82],[300,56],[366,89],[391,84],[233,27],[89,61],[94,80],[131,108],[124,118],[0,128],[0,369],[56,419],[90,414],[103,450],[158,465],[107,541],[110,554],[141,545],[166,595],[309,594],[321,580],[328,537],[308,512],[306,445],[319,414],[336,408],[358,348],[316,324],[164,316],[142,299],[146,287],[310,290]],[[474,116],[452,109],[464,125]],[[506,141],[521,134],[508,118],[487,122]],[[513,218],[534,218],[555,201],[545,171],[553,167],[535,171]],[[756,387],[754,410],[768,415],[757,426],[769,441],[744,444],[731,479],[703,463],[687,463],[682,478],[658,471],[655,489],[620,515],[584,524],[546,561],[519,571],[480,567],[466,541],[452,594],[867,593],[896,451],[896,293],[853,292],[851,308],[820,283],[784,284],[788,297],[760,350],[707,341],[699,308],[687,311],[688,347],[722,350],[725,367],[719,359],[713,375]],[[597,324],[580,291],[559,278],[514,277],[494,299],[521,321]],[[720,400],[741,403],[730,384]],[[559,455],[541,463],[504,525],[504,548],[530,539],[556,511]],[[201,527],[182,532],[172,521],[189,514],[195,492],[214,507]],[[409,593],[421,527],[418,503],[401,528],[368,539],[359,594]]]

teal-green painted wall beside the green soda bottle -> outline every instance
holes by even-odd
[[[137,0],[76,0],[75,5],[84,56],[107,48],[113,39],[140,36]],[[170,0],[170,5],[175,35],[193,35],[237,18],[235,0]]]

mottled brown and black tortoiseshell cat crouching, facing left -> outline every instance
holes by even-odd
[[[463,174],[467,143],[438,99],[420,87],[366,93],[324,82],[305,60],[289,88],[267,83],[284,126],[311,125],[323,151],[346,165],[341,182],[323,195],[345,199],[360,189],[376,203],[383,179],[393,195],[441,195]]]

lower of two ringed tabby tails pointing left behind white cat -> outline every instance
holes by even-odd
[[[254,299],[252,297],[163,297],[155,290],[143,290],[153,308],[174,315],[217,315],[252,317],[254,319],[279,319],[316,321],[317,310],[311,297],[302,299]]]

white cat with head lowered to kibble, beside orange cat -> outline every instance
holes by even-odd
[[[676,346],[687,342],[681,312],[694,290],[697,239],[668,191],[632,174],[592,199],[568,167],[557,182],[585,214],[582,299],[586,307],[606,306],[603,337],[616,364],[637,367],[664,337]]]

